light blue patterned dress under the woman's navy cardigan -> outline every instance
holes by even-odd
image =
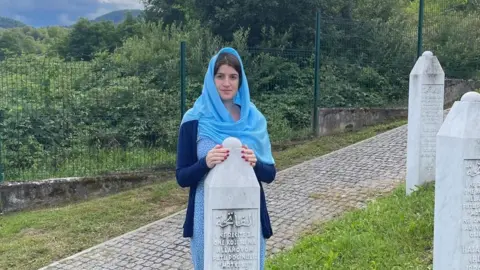
[[[200,159],[207,155],[216,143],[207,138],[199,138],[197,141],[197,157]],[[190,239],[190,250],[192,252],[192,261],[195,270],[203,270],[203,250],[204,250],[204,233],[203,233],[203,213],[204,213],[204,183],[205,177],[198,183],[195,193],[195,210],[193,217],[193,236]],[[262,235],[261,226],[260,234]],[[266,243],[265,238],[260,237],[260,269],[264,269]]]

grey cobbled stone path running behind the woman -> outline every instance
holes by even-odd
[[[316,221],[362,207],[405,177],[407,127],[379,134],[278,172],[264,185],[274,235],[267,252],[289,248]],[[185,212],[151,223],[42,269],[193,269]]]

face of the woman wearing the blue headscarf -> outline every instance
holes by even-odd
[[[239,74],[229,65],[222,65],[215,75],[215,86],[222,101],[231,101],[238,92]]]

